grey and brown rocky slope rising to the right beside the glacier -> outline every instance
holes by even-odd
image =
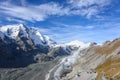
[[[120,39],[91,45],[79,53],[72,71],[62,80],[120,80]]]

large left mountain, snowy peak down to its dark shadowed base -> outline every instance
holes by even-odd
[[[53,59],[47,56],[47,53],[54,45],[57,43],[48,36],[42,35],[37,28],[26,27],[24,24],[2,26],[0,27],[0,66],[26,66],[41,60],[35,58],[37,54],[45,55],[42,61]]]

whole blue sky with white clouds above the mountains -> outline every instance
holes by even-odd
[[[0,25],[39,27],[58,42],[120,37],[120,0],[0,0]]]

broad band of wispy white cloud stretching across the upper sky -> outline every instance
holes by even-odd
[[[49,2],[40,5],[30,5],[26,0],[20,0],[22,6],[12,4],[11,1],[0,3],[0,14],[7,17],[19,18],[28,21],[43,21],[49,16],[80,15],[91,18],[99,14],[110,4],[111,0],[68,0],[68,5]]]

